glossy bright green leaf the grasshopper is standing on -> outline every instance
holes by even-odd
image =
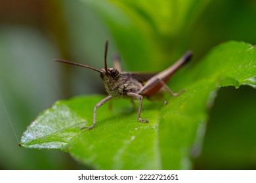
[[[26,148],[58,149],[95,169],[189,169],[191,154],[200,152],[207,109],[217,88],[249,85],[256,88],[256,48],[230,41],[213,48],[199,63],[188,65],[171,80],[178,97],[163,101],[144,100],[141,117],[129,101],[113,101],[113,109],[93,107],[104,96],[81,96],[58,101],[45,110],[24,132]]]

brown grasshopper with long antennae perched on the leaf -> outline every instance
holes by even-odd
[[[169,80],[169,78],[171,78],[175,71],[177,71],[192,57],[191,51],[186,52],[176,63],[160,73],[121,72],[121,66],[119,64],[119,59],[117,58],[114,59],[114,68],[108,68],[106,60],[107,52],[108,41],[106,41],[105,45],[104,68],[100,70],[81,63],[74,63],[72,61],[63,59],[54,59],[54,61],[78,65],[80,67],[87,67],[97,71],[100,73],[100,78],[102,78],[106,92],[109,94],[108,97],[104,98],[95,105],[93,110],[93,125],[89,127],[81,127],[81,129],[92,129],[96,124],[96,109],[104,105],[104,103],[112,98],[119,99],[121,97],[130,97],[131,99],[139,99],[140,105],[137,112],[137,118],[140,122],[148,123],[148,120],[140,118],[143,97],[149,98],[159,92],[161,88],[164,88],[173,96],[177,96],[179,93],[184,92],[184,90],[181,90],[178,93],[173,93],[165,83]]]

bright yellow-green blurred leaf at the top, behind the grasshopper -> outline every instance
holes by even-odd
[[[209,2],[81,1],[108,27],[129,71],[163,69],[181,56],[188,49],[188,28]]]

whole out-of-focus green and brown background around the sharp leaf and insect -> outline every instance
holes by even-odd
[[[55,101],[104,93],[98,73],[54,63],[54,58],[100,69],[104,42],[110,39],[109,65],[119,53],[129,71],[160,71],[187,49],[193,50],[196,62],[221,42],[256,44],[254,0],[187,0],[177,3],[178,7],[172,3],[171,10],[154,5],[156,1],[137,5],[123,1],[127,7],[117,2],[0,1],[0,169],[87,168],[62,152],[18,146],[26,126]],[[190,7],[186,16],[176,16],[186,6]],[[166,16],[168,10],[172,14]],[[152,12],[151,17],[145,12]],[[135,18],[138,27],[132,25]],[[171,18],[173,24],[168,22]],[[151,44],[145,47],[147,42]],[[150,47],[152,42],[155,47]],[[151,51],[156,52],[152,58],[146,54]],[[256,169],[255,94],[249,86],[221,88],[209,110],[202,153],[194,157],[194,169]]]

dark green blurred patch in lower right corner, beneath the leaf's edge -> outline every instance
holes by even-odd
[[[195,169],[256,169],[255,89],[221,88]]]

